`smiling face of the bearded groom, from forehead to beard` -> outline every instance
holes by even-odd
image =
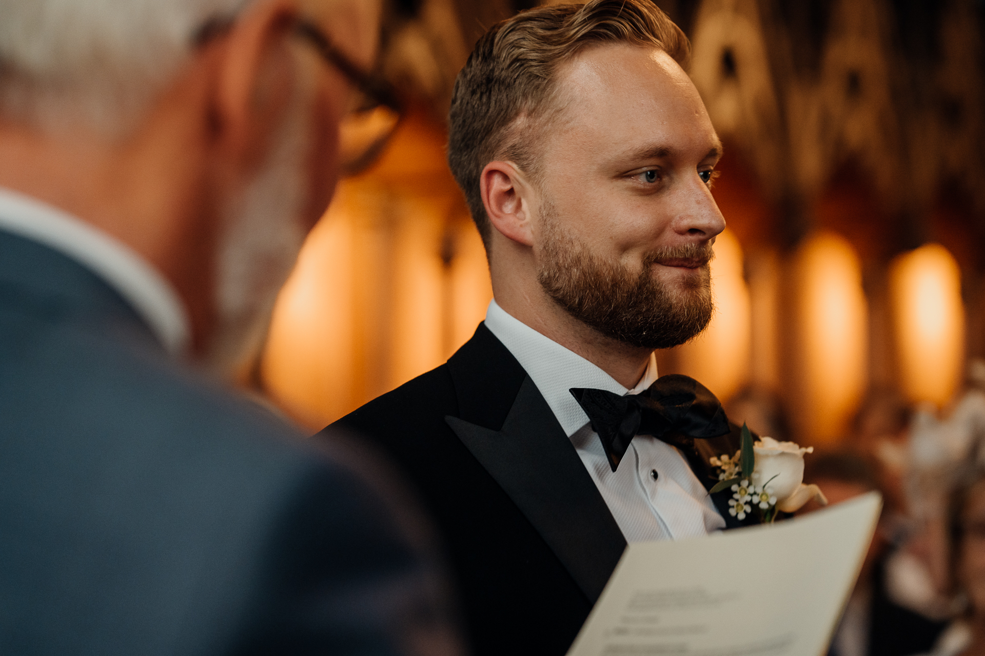
[[[666,53],[593,47],[560,72],[544,128],[534,256],[544,289],[591,328],[642,348],[711,318],[708,261],[725,221],[709,191],[721,145]]]

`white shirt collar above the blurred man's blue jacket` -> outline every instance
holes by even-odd
[[[0,230],[89,268],[130,304],[168,353],[184,352],[189,328],[181,299],[164,276],[126,244],[61,209],[2,187]]]

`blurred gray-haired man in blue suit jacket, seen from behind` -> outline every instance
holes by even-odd
[[[0,652],[457,653],[388,477],[194,371],[331,197],[379,7],[322,10],[0,1]]]

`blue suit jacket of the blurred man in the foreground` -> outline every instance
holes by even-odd
[[[0,653],[448,653],[403,507],[297,438],[0,230]]]

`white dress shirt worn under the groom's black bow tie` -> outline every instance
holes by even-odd
[[[627,542],[680,540],[725,527],[704,486],[675,447],[650,436],[636,436],[614,472],[588,415],[568,391],[597,388],[639,393],[657,379],[654,355],[639,384],[626,389],[577,353],[507,314],[495,300],[486,313],[486,328],[509,349],[544,395]]]

